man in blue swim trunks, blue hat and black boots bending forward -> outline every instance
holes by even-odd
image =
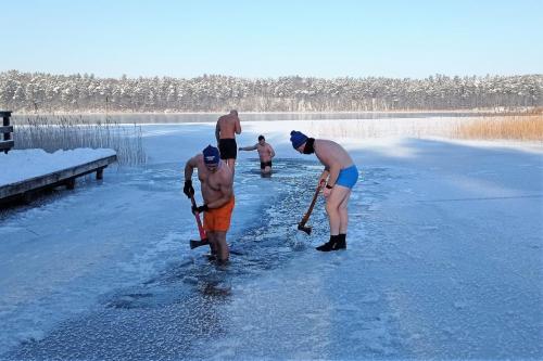
[[[351,190],[358,180],[358,169],[346,151],[336,142],[307,138],[300,131],[290,132],[294,150],[303,154],[315,153],[325,166],[318,179],[319,186],[326,183],[323,194],[326,197],[326,212],[330,223],[330,240],[316,249],[330,252],[346,248],[346,228],[349,222],[348,203]]]

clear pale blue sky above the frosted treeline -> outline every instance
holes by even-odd
[[[0,0],[0,72],[543,73],[543,1]]]

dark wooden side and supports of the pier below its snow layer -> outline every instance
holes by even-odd
[[[116,160],[116,155],[110,155],[48,175],[0,185],[0,205],[21,199],[30,202],[35,194],[59,185],[65,185],[68,190],[73,190],[76,178],[92,172],[96,172],[97,179],[100,180],[103,177],[104,168]]]

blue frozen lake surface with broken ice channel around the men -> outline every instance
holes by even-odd
[[[321,166],[291,149],[290,126],[358,165],[345,252],[314,250],[321,199],[312,235],[295,230]],[[543,358],[541,144],[243,127],[238,143],[264,133],[277,172],[240,153],[226,269],[189,249],[181,193],[214,124],[143,126],[144,167],[3,211],[0,359]]]

